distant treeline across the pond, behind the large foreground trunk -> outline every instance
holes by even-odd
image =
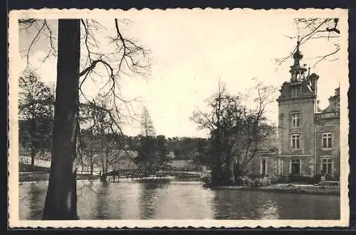
[[[27,71],[19,78],[19,87],[19,143],[21,154],[31,156],[33,168],[35,158],[52,149],[55,91],[34,71]],[[141,132],[136,136],[122,133],[118,124],[120,113],[100,95],[91,102],[80,103],[78,120],[77,165],[91,174],[94,168],[106,174],[125,157],[138,167],[151,170],[169,167],[172,159],[204,164],[208,140],[156,136],[147,108],[142,110]]]

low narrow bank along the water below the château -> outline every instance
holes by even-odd
[[[230,190],[244,190],[253,192],[278,192],[288,194],[315,194],[315,195],[333,195],[340,197],[340,187],[325,187],[325,186],[311,186],[311,185],[283,185],[273,184],[271,186],[263,187],[248,187],[248,186],[210,186],[209,189],[230,189]]]

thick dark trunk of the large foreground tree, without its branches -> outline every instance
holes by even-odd
[[[52,162],[43,219],[78,219],[75,158],[79,63],[80,20],[60,19]]]

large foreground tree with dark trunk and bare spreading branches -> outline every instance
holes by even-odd
[[[58,54],[51,174],[43,219],[78,219],[75,164],[79,133],[79,92],[88,100],[82,90],[83,83],[88,78],[107,79],[100,91],[112,95],[115,110],[120,113],[117,103],[127,101],[120,95],[120,75],[125,70],[139,74],[147,70],[147,66],[140,60],[146,58],[146,51],[137,46],[135,41],[122,36],[117,19],[113,23],[115,25],[113,36],[107,37],[113,45],[113,51],[111,48],[111,51],[102,53],[100,48],[103,45],[98,43],[97,38],[102,35],[103,26],[98,21],[60,19],[57,38],[53,36],[53,30],[46,20],[19,21],[21,30],[28,31],[34,28],[36,31],[24,51],[27,62],[33,45],[41,36],[48,38],[51,44],[46,58]],[[55,40],[58,42],[57,48]],[[80,48],[85,50],[80,51]],[[100,73],[102,70],[107,73],[103,75]],[[118,125],[117,128],[121,130]]]

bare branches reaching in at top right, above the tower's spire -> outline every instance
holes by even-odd
[[[298,36],[288,36],[290,39],[298,41],[298,45],[295,46],[293,51],[288,53],[288,56],[284,58],[276,59],[278,64],[283,63],[293,56],[293,53],[298,50],[298,46],[308,43],[310,40],[327,40],[333,45],[333,50],[325,52],[323,55],[315,57],[315,63],[313,67],[318,63],[326,59],[332,61],[337,60],[337,53],[340,51],[340,28],[339,19],[337,18],[310,18],[310,19],[295,19],[295,25],[297,26]]]

